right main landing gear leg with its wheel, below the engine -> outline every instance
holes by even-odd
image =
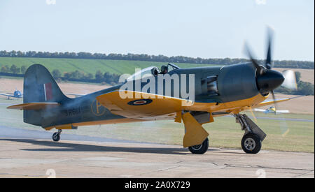
[[[257,154],[261,149],[261,143],[267,136],[247,115],[235,115],[237,122],[241,124],[241,130],[245,131],[241,139],[241,149],[246,154]]]

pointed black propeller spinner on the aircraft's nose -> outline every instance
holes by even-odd
[[[266,70],[257,77],[257,85],[260,92],[269,92],[279,87],[284,81],[282,73],[274,70]]]

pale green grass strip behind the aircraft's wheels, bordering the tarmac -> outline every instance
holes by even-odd
[[[0,98],[0,103],[21,102],[21,100],[8,101],[5,98]],[[23,123],[22,111],[20,110],[6,110],[6,106],[0,105],[0,114],[0,126],[43,131],[40,127]],[[248,113],[248,115],[250,114]],[[261,112],[255,112],[255,116],[314,119],[314,115],[281,114],[275,116],[265,115]],[[210,147],[240,148],[244,131],[241,131],[239,124],[235,123],[235,118],[217,117],[214,120],[214,123],[204,125],[204,128],[210,134]],[[258,125],[267,133],[267,138],[262,142],[262,149],[314,153],[314,121],[258,119]],[[55,132],[55,130],[51,132]],[[79,127],[78,130],[65,130],[63,133],[181,145],[184,129],[183,124],[174,123],[174,121],[146,121],[85,126]],[[286,133],[286,135],[283,135],[283,133]]]

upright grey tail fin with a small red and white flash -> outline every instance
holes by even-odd
[[[23,103],[59,103],[66,99],[47,68],[36,64],[27,69],[24,77]]]

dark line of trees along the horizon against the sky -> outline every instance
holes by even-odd
[[[214,64],[214,65],[231,65],[249,61],[248,59],[225,58],[225,59],[204,59],[194,57],[175,56],[167,57],[162,54],[103,54],[90,52],[21,52],[21,51],[0,51],[0,57],[38,57],[38,58],[63,58],[63,59],[112,59],[112,60],[132,60],[132,61],[155,61],[185,64]],[[259,60],[261,63],[264,60]],[[276,68],[311,68],[314,69],[314,61],[293,61],[293,60],[276,60],[274,61]]]

